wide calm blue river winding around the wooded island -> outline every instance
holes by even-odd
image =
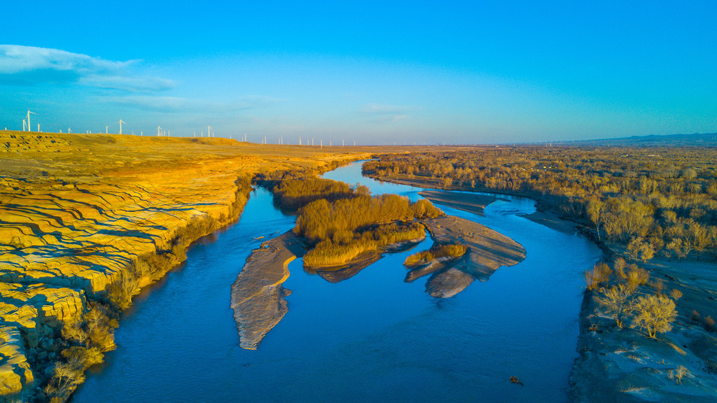
[[[421,189],[362,177],[361,163],[325,177],[420,198]],[[523,262],[436,300],[424,279],[403,282],[405,257],[430,240],[337,284],[294,260],[289,311],[250,351],[239,347],[229,288],[251,250],[295,221],[257,189],[237,224],[197,242],[182,267],[138,295],[118,348],[72,402],[566,402],[582,272],[601,252],[518,217],[535,211],[531,199],[502,197],[485,217],[441,208],[520,242]]]

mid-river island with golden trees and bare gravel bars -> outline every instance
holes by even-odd
[[[267,175],[257,183],[270,189],[275,203],[297,214],[297,219],[292,231],[252,252],[232,286],[234,318],[245,349],[256,349],[287,313],[283,297],[290,291],[282,283],[289,275],[288,262],[296,257],[303,257],[304,270],[338,283],[385,253],[417,245],[429,231],[435,243],[429,252],[422,252],[422,258],[452,259],[442,259],[430,270],[426,265],[415,267],[418,260],[409,264],[407,282],[431,274],[426,291],[435,298],[451,297],[475,278],[485,281],[501,265],[515,265],[525,258],[517,242],[481,224],[446,216],[427,199],[372,196],[366,186],[351,187],[298,172]],[[270,280],[264,273],[270,273]]]

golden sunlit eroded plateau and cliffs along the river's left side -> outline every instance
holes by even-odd
[[[0,141],[0,396],[40,400],[62,351],[113,348],[111,328],[96,346],[62,329],[85,331],[98,306],[115,319],[110,308],[239,217],[256,174],[369,156],[225,138],[0,131]],[[54,397],[66,399],[82,369]]]

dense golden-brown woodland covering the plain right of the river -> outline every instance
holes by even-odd
[[[717,252],[715,161],[713,148],[526,146],[382,156],[364,163],[364,172],[527,194],[646,261]]]

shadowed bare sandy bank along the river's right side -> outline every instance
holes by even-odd
[[[420,181],[391,181],[422,186]],[[454,201],[451,207],[464,211],[475,209],[456,203]],[[483,207],[478,206],[479,209]],[[561,219],[559,214],[549,210],[523,217],[566,234],[580,228],[580,224]],[[589,229],[584,232],[590,234]],[[626,253],[624,246],[594,241],[599,243],[607,258]],[[710,318],[717,317],[717,270],[714,270],[713,262],[695,261],[697,258],[693,254],[691,260],[683,262],[653,259],[639,264],[650,271],[652,281],[659,280],[664,293],[673,289],[682,293],[675,301],[678,318],[672,330],[660,334],[657,339],[646,338],[645,334],[629,326],[617,328],[597,300],[596,292],[584,292],[579,314],[579,357],[570,376],[572,401],[714,401],[717,395],[717,333]],[[702,256],[703,260],[705,258],[709,257]],[[660,287],[657,284],[654,287]],[[655,293],[654,287],[647,287],[642,292]],[[678,384],[675,374],[680,366],[686,369],[686,374]]]

